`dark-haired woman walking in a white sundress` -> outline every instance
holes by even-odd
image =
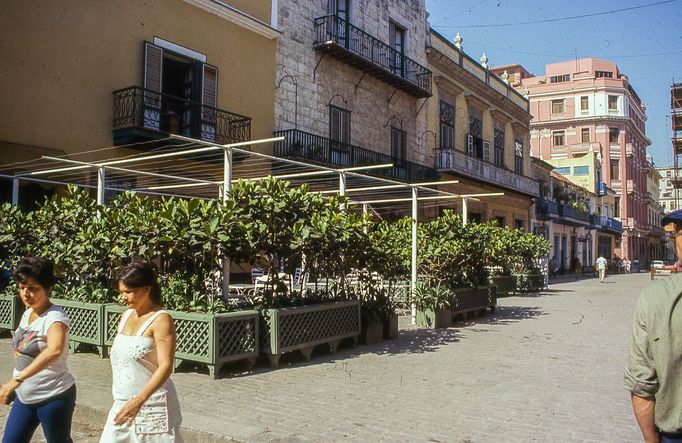
[[[161,289],[149,263],[132,263],[116,281],[128,310],[111,347],[112,393],[100,443],[181,442],[182,416],[170,380],[173,319],[161,310]]]

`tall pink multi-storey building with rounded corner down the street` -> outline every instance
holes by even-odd
[[[653,230],[647,217],[646,107],[615,63],[584,58],[545,69],[540,76],[520,65],[491,71],[530,98],[533,156],[551,163],[597,152],[597,182],[616,191],[615,216],[623,222],[614,252],[646,263]]]

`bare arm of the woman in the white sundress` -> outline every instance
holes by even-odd
[[[163,386],[173,372],[176,339],[173,319],[166,313],[159,315],[154,323],[152,323],[150,331],[156,344],[159,367],[154,371],[144,388],[128,400],[118,414],[116,414],[114,423],[117,425],[133,420],[144,402]]]

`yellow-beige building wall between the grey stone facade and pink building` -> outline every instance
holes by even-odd
[[[485,68],[466,58],[460,64],[460,54],[451,43],[439,34],[431,32],[430,43],[427,48],[428,68],[433,72],[433,97],[431,97],[421,111],[427,120],[429,133],[424,135],[422,146],[424,155],[430,162],[437,164],[437,148],[444,146],[440,133],[441,102],[445,102],[454,109],[454,141],[455,150],[467,153],[467,135],[469,134],[469,118],[475,116],[482,121],[482,138],[490,142],[490,161],[494,156],[495,129],[504,132],[504,168],[507,173],[514,171],[515,141],[523,144],[523,176],[530,176],[530,114],[526,112],[527,102],[513,90],[511,93],[518,98],[515,103],[486,83]],[[465,61],[466,60],[466,61]],[[491,82],[492,83],[492,82]],[[435,134],[435,135],[434,135]],[[436,142],[434,143],[434,137]],[[425,141],[428,140],[428,141]],[[495,168],[492,164],[490,168]],[[449,190],[459,194],[481,194],[503,192],[504,196],[481,197],[470,200],[468,209],[471,214],[481,217],[481,221],[504,219],[504,225],[515,227],[521,224],[530,231],[531,214],[529,213],[533,200],[531,196],[502,188],[492,181],[476,179],[462,173],[441,170],[442,179],[456,179],[459,183],[449,186]],[[461,212],[461,203],[452,203]]]

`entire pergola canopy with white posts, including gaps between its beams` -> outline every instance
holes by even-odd
[[[150,196],[226,199],[238,180],[267,177],[287,180],[292,186],[307,185],[310,192],[348,197],[347,210],[372,212],[379,218],[410,216],[411,289],[417,283],[417,225],[419,210],[453,207],[462,202],[462,220],[467,223],[467,203],[503,193],[458,194],[457,180],[406,183],[372,175],[392,168],[392,164],[331,168],[320,164],[280,158],[251,150],[264,147],[275,152],[273,144],[283,137],[220,145],[172,135],[157,141],[151,149],[140,146],[114,146],[96,149],[68,158],[44,156],[27,162],[5,165],[0,177],[12,181],[12,203],[19,203],[20,183],[37,182],[56,186],[75,185],[91,190],[98,204],[106,204],[117,193],[134,191]],[[122,152],[129,153],[121,156]],[[230,264],[223,268],[223,293],[229,293]],[[414,322],[415,309],[412,308]]]

